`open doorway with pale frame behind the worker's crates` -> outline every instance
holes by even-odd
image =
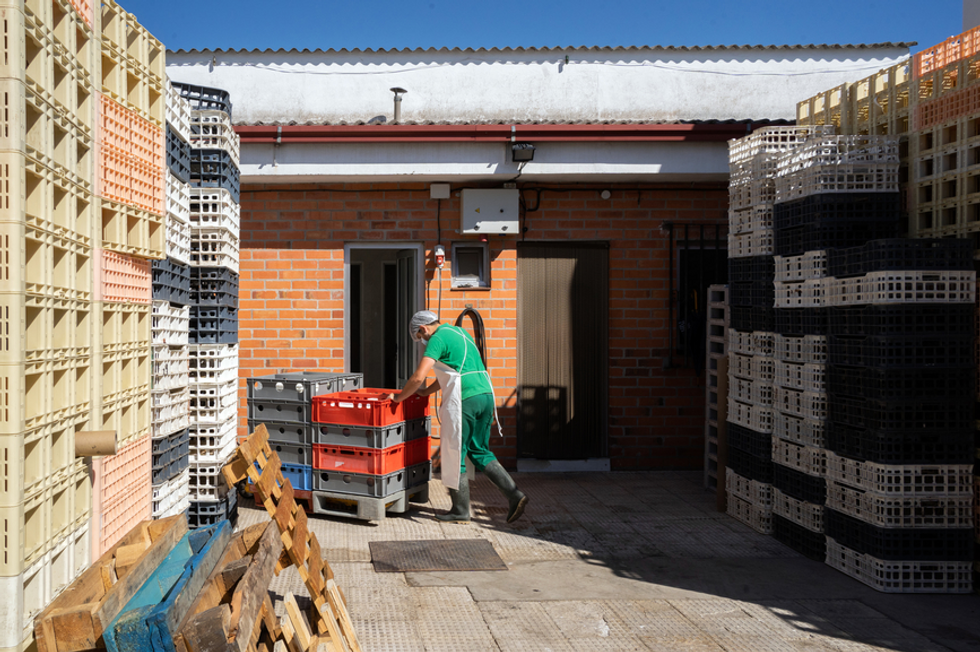
[[[418,364],[408,321],[423,296],[422,245],[344,249],[344,364],[365,387],[400,389]]]

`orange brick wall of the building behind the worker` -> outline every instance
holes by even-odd
[[[614,469],[700,468],[704,454],[704,374],[662,369],[668,350],[668,259],[665,221],[727,220],[724,188],[655,187],[546,190],[526,214],[527,240],[610,242],[609,453]],[[525,192],[531,207],[535,192]],[[241,408],[245,378],[294,369],[343,371],[344,244],[424,242],[427,305],[439,278],[428,255],[437,243],[437,200],[426,184],[252,186],[242,192]],[[442,200],[442,243],[466,238],[457,197]],[[474,238],[475,239],[475,238]],[[449,252],[447,251],[447,254]],[[490,238],[492,289],[452,290],[451,261],[441,274],[445,320],[471,304],[486,326],[490,373],[504,422],[493,448],[516,456],[516,238]],[[676,281],[675,281],[676,282]],[[675,360],[677,358],[675,357]]]

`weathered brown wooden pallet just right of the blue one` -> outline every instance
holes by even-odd
[[[232,539],[174,637],[177,652],[271,652],[282,631],[269,582],[282,554],[272,522]]]

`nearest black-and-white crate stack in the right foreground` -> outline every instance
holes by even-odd
[[[968,592],[972,246],[879,240],[829,269],[827,563],[881,591]]]

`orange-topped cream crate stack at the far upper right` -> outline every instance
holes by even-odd
[[[980,28],[914,57],[910,232],[980,247]]]

